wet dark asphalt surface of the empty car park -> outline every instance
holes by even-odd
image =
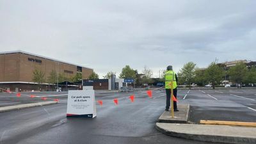
[[[178,99],[180,103],[189,103],[193,108],[189,119],[191,122],[225,119],[255,122],[255,92],[256,90],[179,90]],[[97,104],[97,117],[93,119],[66,118],[65,93],[61,96],[53,96],[58,93],[36,95],[41,94],[52,95],[52,99],[58,98],[60,103],[0,113],[1,144],[208,143],[173,138],[155,129],[156,122],[164,111],[164,91],[153,91],[152,99],[148,98],[146,92],[95,93],[96,100],[102,100],[103,105]],[[132,94],[135,95],[134,102],[128,99]],[[2,93],[0,97],[4,97]],[[120,99],[117,106],[113,103],[115,98]]]

